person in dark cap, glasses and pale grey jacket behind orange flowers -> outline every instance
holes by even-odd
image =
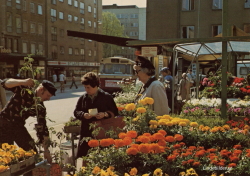
[[[134,65],[135,73],[138,79],[143,83],[140,88],[135,102],[150,97],[154,99],[152,110],[158,116],[169,114],[168,99],[163,84],[155,78],[155,67],[145,57],[138,56],[136,65]]]

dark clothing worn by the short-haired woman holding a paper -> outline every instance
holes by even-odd
[[[78,99],[74,110],[74,116],[82,122],[77,157],[85,156],[89,150],[87,142],[81,140],[83,137],[92,137],[92,130],[89,129],[89,124],[98,119],[95,117],[84,119],[83,114],[88,113],[88,110],[93,108],[97,108],[98,112],[111,111],[115,116],[118,115],[118,109],[110,94],[99,89],[97,96],[92,102],[92,99],[86,92],[84,92],[84,94]]]

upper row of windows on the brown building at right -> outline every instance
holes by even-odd
[[[182,0],[182,10],[190,11],[194,10],[194,1],[195,0]],[[223,0],[213,0],[212,9],[222,9]],[[244,8],[250,8],[250,0],[244,1]]]

